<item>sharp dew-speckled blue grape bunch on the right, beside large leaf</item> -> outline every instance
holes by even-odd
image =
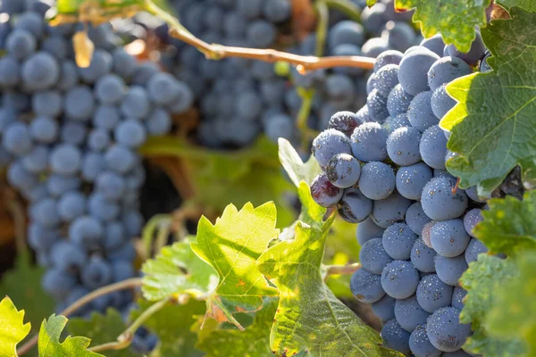
[[[485,55],[479,33],[466,54],[440,35],[405,54],[383,52],[364,108],[336,113],[313,142],[322,167],[315,202],[359,223],[362,269],[350,288],[372,303],[385,345],[406,355],[469,355],[458,280],[487,251],[473,235],[486,200],[475,187],[457,187],[445,169],[454,154],[439,121],[456,104],[447,84],[479,62],[490,71]]]

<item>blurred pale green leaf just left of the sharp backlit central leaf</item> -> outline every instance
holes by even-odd
[[[170,295],[205,295],[218,285],[216,271],[194,253],[190,242],[164,246],[155,259],[141,268],[142,291],[147,300],[158,301]]]

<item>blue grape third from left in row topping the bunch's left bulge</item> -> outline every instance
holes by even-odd
[[[396,129],[387,138],[387,154],[400,166],[413,165],[421,161],[420,141],[419,130],[411,127]]]

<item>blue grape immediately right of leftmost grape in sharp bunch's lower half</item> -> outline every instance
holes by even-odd
[[[381,273],[381,287],[395,299],[414,295],[419,284],[419,272],[410,262],[389,262]]]

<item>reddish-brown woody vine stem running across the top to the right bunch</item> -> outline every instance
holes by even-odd
[[[365,70],[372,70],[374,62],[376,62],[374,58],[363,56],[316,57],[289,54],[273,49],[254,49],[222,46],[218,44],[211,45],[192,35],[188,29],[185,29],[184,26],[180,24],[180,21],[156,6],[152,0],[146,0],[145,10],[165,21],[170,26],[170,35],[172,37],[178,38],[181,41],[186,42],[188,45],[196,47],[197,50],[205,54],[206,58],[211,60],[240,57],[264,62],[288,62],[297,66],[297,71],[302,74],[307,71],[316,71],[334,67],[357,67]]]

